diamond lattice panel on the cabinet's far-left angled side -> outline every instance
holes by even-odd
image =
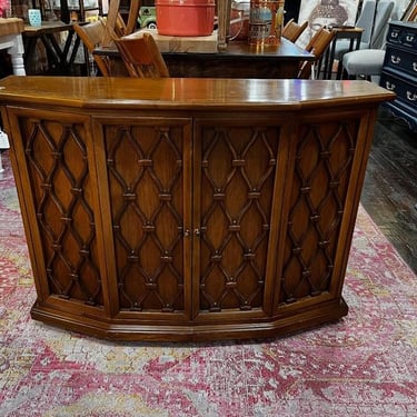
[[[83,126],[22,123],[50,291],[102,305]]]

